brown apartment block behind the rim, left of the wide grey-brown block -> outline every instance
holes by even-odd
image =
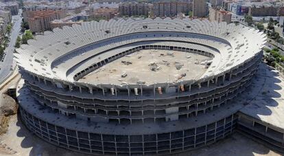
[[[119,4],[121,16],[148,16],[151,10],[152,4],[150,3],[126,2]]]

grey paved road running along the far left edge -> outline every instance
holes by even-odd
[[[21,10],[19,12],[21,14]],[[14,63],[13,60],[13,52],[14,52],[14,45],[16,43],[16,38],[19,35],[19,32],[21,30],[21,21],[22,18],[20,15],[12,16],[12,19],[14,20],[13,28],[11,32],[11,38],[10,43],[8,47],[5,49],[6,56],[3,60],[3,62],[0,62],[0,82],[2,82],[11,72],[16,63]]]

